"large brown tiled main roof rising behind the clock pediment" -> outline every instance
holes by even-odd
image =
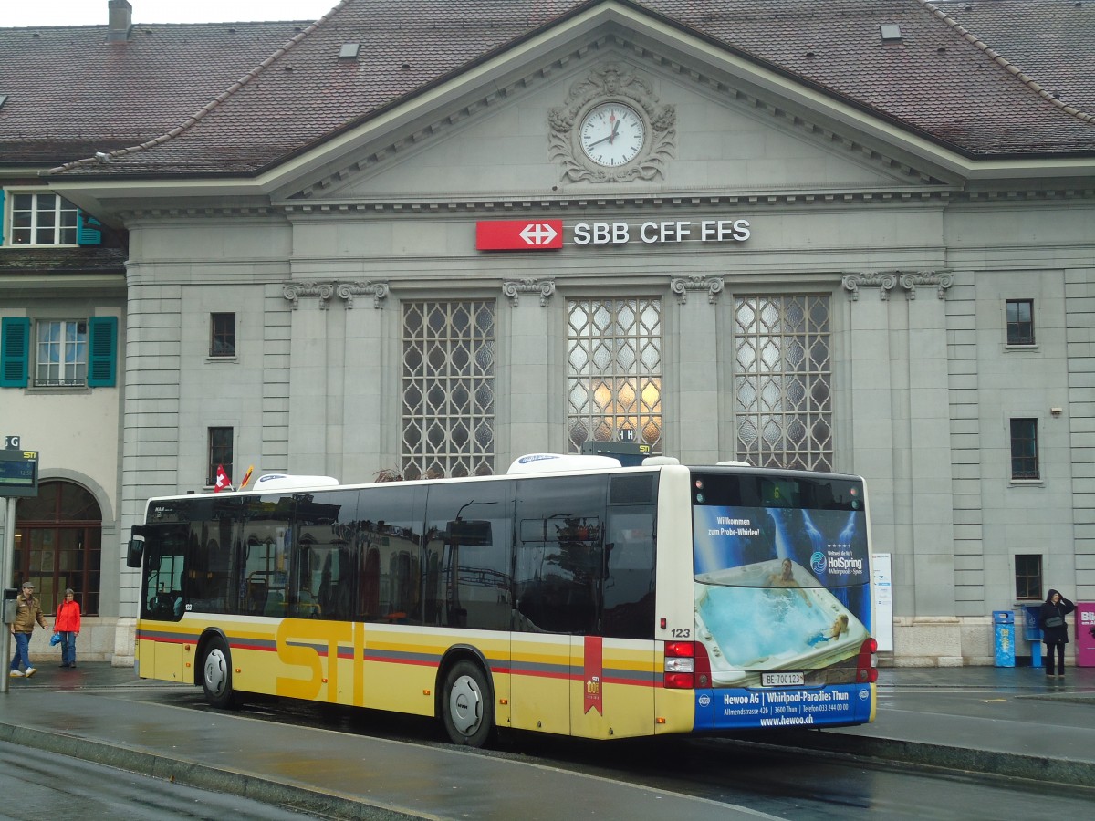
[[[159,65],[150,60],[143,72],[118,72],[111,60],[100,59],[94,73],[111,86],[105,106],[122,109],[129,131],[139,136],[110,163],[81,160],[77,152],[68,159],[79,161],[62,171],[253,175],[606,4],[621,10],[623,20],[639,15],[668,26],[965,157],[1095,155],[1090,106],[1077,107],[1092,102],[1087,66],[1095,3],[968,0],[959,9],[926,0],[342,0],[316,25],[253,60],[233,78],[239,82],[218,86],[183,114],[198,95],[187,95],[186,103],[172,100],[170,106],[163,100],[180,85],[163,77],[177,70],[175,62],[199,65],[206,86],[229,72],[212,71],[211,60],[195,63],[185,49],[164,55]],[[1047,20],[1073,34],[1033,38],[1031,30]],[[884,43],[880,26],[895,24],[900,39]],[[266,25],[273,38],[278,24]],[[988,34],[979,36],[972,31],[977,26]],[[223,27],[208,26],[218,48]],[[27,30],[8,30],[0,37],[12,31]],[[348,43],[359,44],[357,57],[339,58]],[[1041,54],[1054,49],[1054,56]],[[35,59],[41,65],[41,57]],[[7,77],[2,62],[0,76]],[[136,94],[151,104],[142,106],[142,119],[125,101],[148,83],[164,93],[159,101],[155,94]],[[0,151],[11,135],[5,108],[0,108]],[[103,136],[106,130],[103,117],[69,118],[56,106],[43,116],[59,117],[65,126],[58,131],[83,128]],[[114,136],[117,148],[125,138]],[[54,137],[60,146],[60,137]]]

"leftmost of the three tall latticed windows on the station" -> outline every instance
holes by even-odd
[[[403,307],[403,475],[494,472],[493,301]]]

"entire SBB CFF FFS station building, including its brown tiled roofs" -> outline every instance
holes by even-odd
[[[90,652],[131,660],[148,497],[218,465],[589,441],[864,476],[892,663],[1095,597],[1092,4],[108,11],[0,30],[10,576]]]

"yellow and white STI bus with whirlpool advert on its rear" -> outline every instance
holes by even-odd
[[[590,739],[872,721],[857,476],[530,454],[505,475],[152,498],[135,666]]]

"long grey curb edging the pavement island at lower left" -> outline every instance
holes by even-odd
[[[169,759],[165,755],[108,744],[81,736],[68,736],[37,728],[0,724],[0,741],[33,747],[46,752],[103,764],[173,784],[234,795],[309,816],[339,819],[339,821],[438,819],[437,816],[410,812],[380,802],[369,803],[359,798],[279,782],[254,773],[221,770],[185,759]]]

